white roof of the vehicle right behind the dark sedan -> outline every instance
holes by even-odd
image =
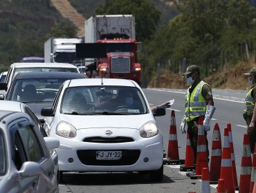
[[[53,67],[53,68],[77,68],[75,65],[71,63],[50,63],[50,62],[20,62],[20,63],[12,63],[15,68],[31,68],[31,67]]]

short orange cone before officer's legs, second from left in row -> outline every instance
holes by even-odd
[[[194,152],[190,143],[190,135],[187,132],[187,145],[185,150],[185,165],[180,166],[182,172],[194,170]]]

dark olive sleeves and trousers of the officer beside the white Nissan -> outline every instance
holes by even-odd
[[[192,93],[196,86],[190,88],[189,92]],[[201,94],[205,100],[211,99],[212,98],[212,90],[210,89],[210,86],[205,84],[203,85],[201,89]],[[204,117],[204,116],[197,116],[196,119],[192,121],[187,121],[188,124],[188,134],[190,136],[190,143],[193,148],[194,152],[194,163],[196,163],[196,154],[197,154],[197,135],[198,135],[198,130],[199,130],[199,117]],[[207,132],[204,132],[205,134],[205,144],[206,144],[206,151],[207,155],[209,157],[209,150],[208,150],[208,139],[207,139]],[[209,159],[208,159],[209,161]]]

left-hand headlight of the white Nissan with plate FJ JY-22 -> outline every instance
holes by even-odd
[[[66,138],[74,138],[76,130],[71,124],[62,121],[57,125],[56,134]]]

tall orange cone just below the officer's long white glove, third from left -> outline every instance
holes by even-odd
[[[196,152],[196,173],[188,174],[190,179],[201,179],[203,167],[208,166],[208,156],[206,153],[205,134],[203,129],[203,118],[199,118],[199,130],[197,136],[197,152]]]

